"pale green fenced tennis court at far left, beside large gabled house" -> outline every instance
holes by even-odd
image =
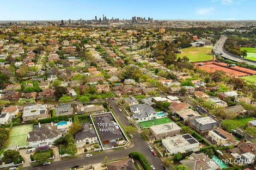
[[[27,135],[29,132],[33,130],[33,124],[25,124],[13,127],[11,129],[8,147],[12,146],[26,146],[27,142]]]

